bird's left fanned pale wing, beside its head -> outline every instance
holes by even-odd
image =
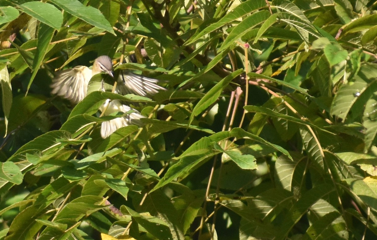
[[[52,79],[51,93],[64,97],[72,103],[78,103],[86,96],[86,90],[90,78],[92,77],[92,70],[86,66],[77,66],[72,69],[67,69],[57,72],[54,79]]]

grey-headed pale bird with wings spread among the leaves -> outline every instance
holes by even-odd
[[[93,62],[90,69],[87,66],[76,66],[71,69],[57,72],[52,79],[51,93],[68,99],[72,104],[77,104],[87,95],[87,87],[92,76],[98,73],[107,73],[113,75],[113,63],[107,55],[99,56]],[[129,94],[133,93],[139,96],[152,96],[160,90],[166,90],[157,85],[157,79],[141,76],[121,70],[117,76],[117,83],[114,93]],[[104,90],[102,90],[104,91]],[[144,118],[136,109],[124,105],[120,100],[107,99],[100,107],[103,115],[110,115],[114,112],[130,112],[129,114],[114,118],[101,123],[101,137],[107,138],[117,129],[130,124],[138,125],[140,118]]]

